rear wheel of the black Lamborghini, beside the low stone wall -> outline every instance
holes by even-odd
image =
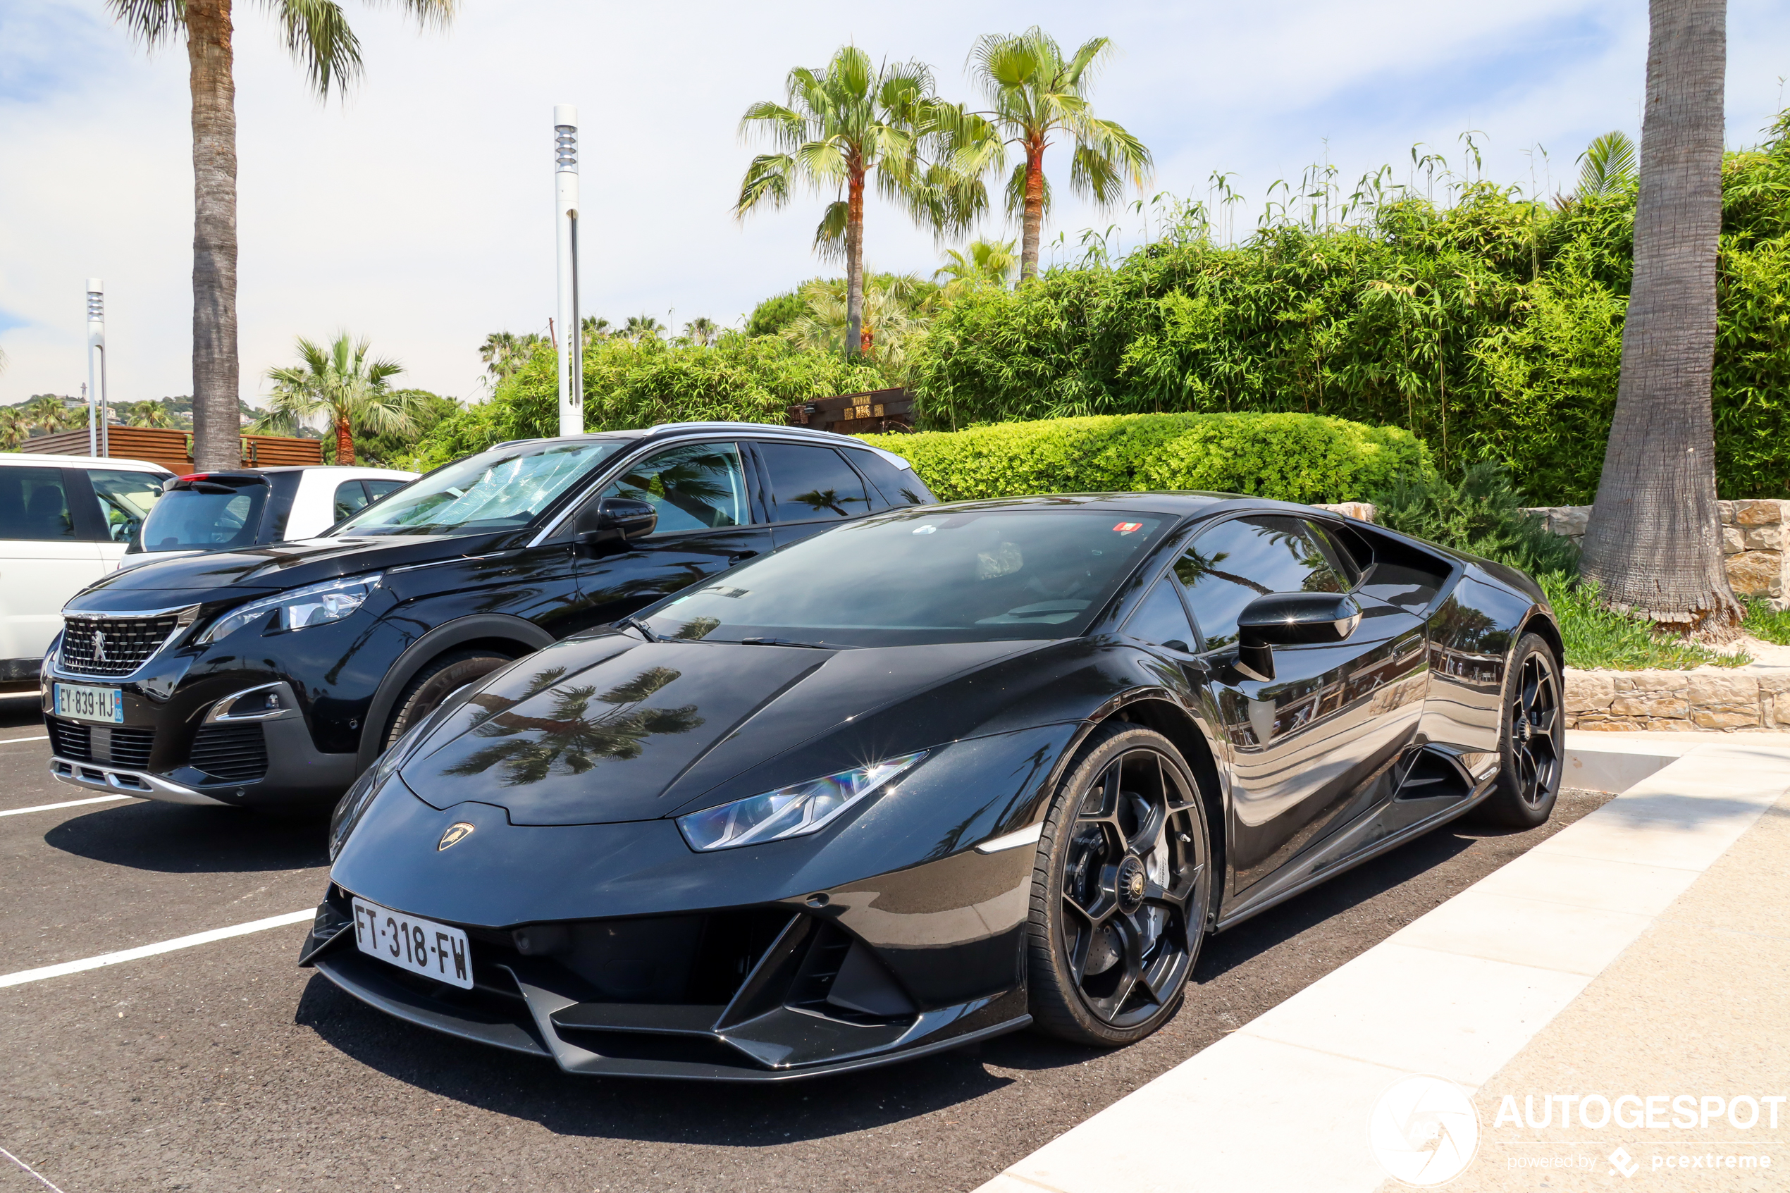
[[[1564,685],[1559,660],[1541,635],[1525,633],[1504,678],[1498,778],[1473,819],[1536,828],[1554,814],[1566,760]]]

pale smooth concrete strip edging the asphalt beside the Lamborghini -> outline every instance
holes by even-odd
[[[1790,789],[1790,740],[1572,733],[1566,782],[1622,794],[979,1193],[1378,1189],[1375,1100],[1516,1057]]]

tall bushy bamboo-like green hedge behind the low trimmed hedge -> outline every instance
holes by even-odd
[[[922,426],[1296,411],[1402,426],[1450,476],[1509,465],[1538,504],[1597,494],[1622,372],[1634,191],[1530,204],[1405,193],[1364,227],[1203,227],[949,304],[909,351]],[[1790,497],[1790,113],[1722,163],[1715,467]]]

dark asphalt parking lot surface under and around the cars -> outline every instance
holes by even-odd
[[[324,823],[61,803],[0,699],[0,975],[315,905]],[[109,1189],[970,1189],[1523,853],[1445,828],[1206,944],[1167,1028],[1035,1036],[771,1089],[605,1082],[387,1020],[299,969],[299,925],[0,989],[0,1148]],[[1172,1139],[1164,1139],[1172,1148]],[[0,1193],[43,1189],[0,1157]]]

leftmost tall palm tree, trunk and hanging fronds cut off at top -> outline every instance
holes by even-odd
[[[184,30],[193,93],[193,460],[240,461],[236,361],[236,80],[231,0],[106,0],[147,47]],[[360,39],[335,0],[270,0],[286,48],[319,97],[362,73]],[[455,0],[403,0],[422,25],[446,23]]]

